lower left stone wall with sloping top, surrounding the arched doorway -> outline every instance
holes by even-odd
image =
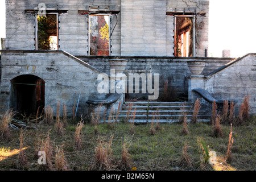
[[[99,73],[102,72],[61,51],[2,51],[0,110],[10,109],[10,81],[20,75],[34,75],[46,82],[46,106],[52,105],[56,110],[56,103],[60,101],[61,105],[67,105],[68,114],[72,115],[80,90],[77,114],[86,114],[88,99],[106,97],[97,92]],[[57,83],[76,86],[79,90]]]

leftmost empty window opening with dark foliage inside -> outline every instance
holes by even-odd
[[[46,16],[36,16],[37,33],[36,49],[57,50],[58,46],[58,15],[47,14]]]

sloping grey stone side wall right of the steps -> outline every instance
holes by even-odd
[[[217,71],[204,80],[204,89],[218,100],[236,100],[241,104],[250,95],[251,114],[256,113],[256,54]]]

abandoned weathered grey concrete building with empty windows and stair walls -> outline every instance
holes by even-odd
[[[137,105],[145,108],[152,93],[144,92],[142,77],[158,75],[150,103],[168,115],[197,97],[207,108],[211,98],[240,104],[245,95],[255,114],[256,54],[208,57],[208,20],[209,0],[6,0],[0,111],[56,110],[60,101],[69,115],[74,106],[81,115],[101,102],[125,109],[129,99],[144,100]],[[197,64],[202,73],[192,71]],[[99,93],[98,76],[111,77],[111,68],[141,81],[129,80],[134,90],[126,93]]]

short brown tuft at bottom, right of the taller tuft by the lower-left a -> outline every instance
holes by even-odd
[[[69,170],[69,165],[68,165],[67,159],[65,158],[63,146],[56,147],[55,168],[56,168],[56,171]]]

